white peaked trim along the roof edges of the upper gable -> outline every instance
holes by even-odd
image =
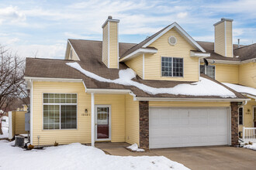
[[[163,36],[164,33],[168,32],[172,28],[174,28],[179,34],[181,34],[183,38],[185,38],[192,46],[195,47],[195,49],[198,49],[199,51],[206,53],[206,50],[203,49],[198,42],[192,39],[192,37],[189,36],[189,34],[185,32],[185,30],[182,29],[181,26],[178,25],[178,23],[173,22],[171,25],[166,26],[164,29],[161,29],[160,31],[156,32],[154,35],[148,37],[147,39],[144,39],[144,41],[138,43],[136,46],[133,46],[131,49],[127,50],[126,53],[123,53],[123,55],[120,58],[123,58],[129,55],[130,53],[133,53],[137,49],[146,48],[147,46],[150,46],[152,42],[154,42],[155,40]]]

